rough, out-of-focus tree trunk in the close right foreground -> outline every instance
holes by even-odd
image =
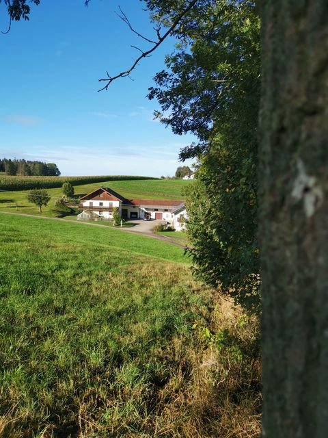
[[[263,437],[328,434],[328,1],[260,0]]]

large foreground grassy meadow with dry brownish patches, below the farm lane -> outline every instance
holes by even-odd
[[[0,214],[0,437],[260,435],[258,323],[183,249]]]

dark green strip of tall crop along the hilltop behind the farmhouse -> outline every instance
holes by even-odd
[[[130,181],[135,179],[157,179],[152,177],[131,177],[128,175],[107,175],[101,177],[10,177],[0,175],[0,190],[31,190],[57,188],[69,181],[72,185],[100,183],[102,181]]]

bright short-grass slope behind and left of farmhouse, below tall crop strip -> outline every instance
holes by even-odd
[[[148,199],[171,199],[183,200],[183,189],[192,181],[180,179],[147,179],[141,181],[105,181],[102,183],[90,183],[74,186],[77,197],[83,196],[101,185],[109,187],[126,198],[148,198]],[[62,196],[61,188],[47,189],[51,195],[51,201],[46,207],[42,207],[42,216],[56,217],[54,211],[55,201]],[[1,191],[0,190],[0,211],[11,211],[39,216],[38,207],[27,202],[28,190]]]

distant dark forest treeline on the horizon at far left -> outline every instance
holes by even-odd
[[[55,163],[31,162],[25,159],[0,158],[0,172],[6,175],[22,175],[26,177],[58,177],[59,168]]]

